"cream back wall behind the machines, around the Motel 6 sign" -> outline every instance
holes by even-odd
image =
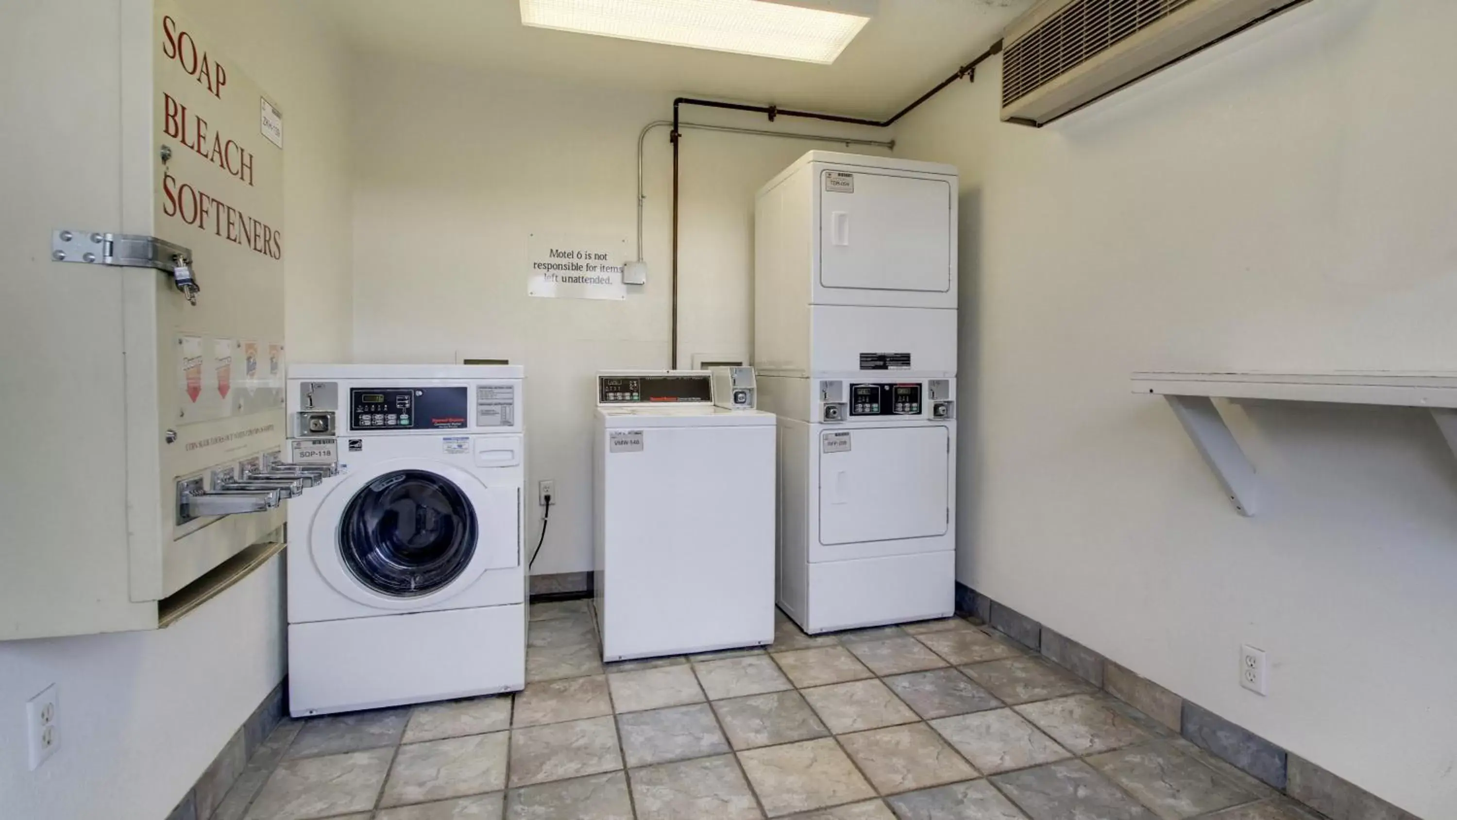
[[[667,131],[647,143],[650,274],[640,293],[527,297],[527,234],[621,236],[631,252],[638,131],[670,117],[663,95],[388,58],[356,68],[354,355],[455,361],[460,352],[526,366],[530,497],[549,478],[559,504],[536,574],[592,569],[593,374],[669,366]],[[683,119],[710,121],[701,109]],[[753,194],[814,147],[826,146],[685,134],[680,367],[695,352],[749,355]],[[533,520],[530,545],[538,533]]]

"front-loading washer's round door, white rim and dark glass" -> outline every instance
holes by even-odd
[[[310,548],[339,594],[382,609],[430,609],[487,569],[519,564],[520,489],[491,488],[428,459],[395,459],[339,482]]]

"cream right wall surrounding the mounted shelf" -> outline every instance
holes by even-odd
[[[1225,408],[1268,489],[1241,519],[1128,376],[1457,368],[1453,26],[1317,0],[1043,130],[998,122],[991,61],[898,151],[965,175],[960,580],[1431,820],[1457,817],[1432,421]]]

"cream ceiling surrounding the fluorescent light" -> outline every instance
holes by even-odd
[[[860,117],[893,114],[1033,0],[880,0],[833,66],[526,28],[516,0],[306,0],[360,52]]]

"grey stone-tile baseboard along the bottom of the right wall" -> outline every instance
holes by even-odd
[[[1421,820],[962,583],[956,584],[956,609],[1042,653],[1049,661],[1330,820]]]

